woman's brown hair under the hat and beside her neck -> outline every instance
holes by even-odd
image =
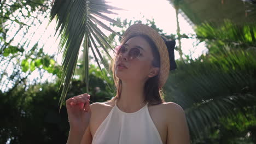
[[[154,57],[152,61],[152,65],[154,67],[160,68],[160,54],[154,42],[147,35],[132,35],[129,39],[136,36],[144,38],[149,43],[153,53],[153,57]],[[127,39],[126,41],[128,41],[129,39]],[[122,41],[122,44],[125,44],[126,41]],[[116,58],[113,59],[111,65],[112,65],[112,73],[114,77],[115,87],[117,90],[117,95],[115,95],[115,97],[112,100],[117,100],[118,98],[120,98],[121,89],[122,89],[122,81],[115,76],[115,61],[116,61]],[[150,77],[146,81],[144,86],[144,95],[145,95],[144,103],[148,102],[150,105],[158,105],[164,102],[164,100],[162,99],[162,90],[159,89],[159,86],[158,86],[158,79],[159,79],[159,74],[155,75],[154,77]]]

